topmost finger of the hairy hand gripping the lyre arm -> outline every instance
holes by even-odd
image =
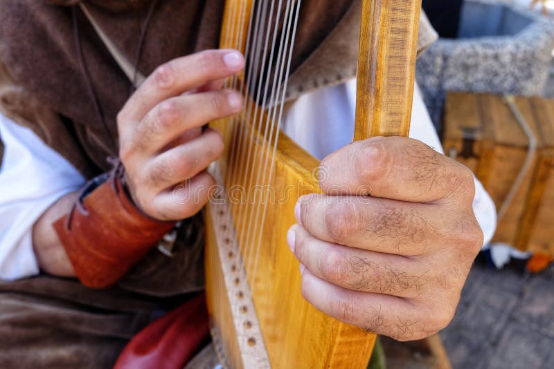
[[[319,177],[321,188],[330,195],[370,194],[410,202],[474,197],[469,169],[409,138],[354,142],[325,158]]]

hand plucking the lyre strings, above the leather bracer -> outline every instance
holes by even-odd
[[[120,159],[130,194],[158,220],[195,215],[215,185],[206,168],[224,150],[222,136],[202,126],[238,113],[243,99],[222,90],[244,68],[235,50],[208,50],[159,66],[117,117]],[[179,201],[175,201],[176,188]]]

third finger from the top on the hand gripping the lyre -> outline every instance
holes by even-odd
[[[417,298],[432,287],[429,265],[402,256],[327,243],[292,227],[296,258],[315,276],[348,290]],[[289,237],[287,237],[289,238]]]

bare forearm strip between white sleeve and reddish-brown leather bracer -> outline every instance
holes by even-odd
[[[75,276],[71,262],[52,225],[69,213],[77,196],[78,193],[73,192],[57,200],[33,226],[33,249],[37,263],[40,269],[48,274]]]

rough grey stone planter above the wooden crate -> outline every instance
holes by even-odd
[[[544,95],[551,19],[508,3],[466,0],[459,37],[440,39],[418,60],[418,83],[439,130],[445,91]]]

